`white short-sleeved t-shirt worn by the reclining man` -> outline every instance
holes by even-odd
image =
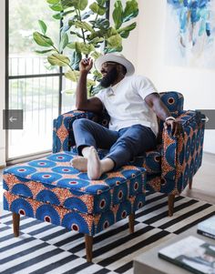
[[[96,96],[107,109],[110,117],[109,129],[119,130],[133,125],[150,127],[157,136],[157,117],[144,101],[145,97],[157,92],[145,76],[126,76],[117,85],[102,89]]]

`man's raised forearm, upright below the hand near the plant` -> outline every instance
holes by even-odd
[[[87,105],[87,71],[81,71],[77,81],[76,107],[83,108]]]

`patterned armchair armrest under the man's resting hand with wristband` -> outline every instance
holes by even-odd
[[[173,195],[179,195],[200,168],[205,127],[197,111],[183,111],[177,121],[182,126],[179,137],[172,136],[170,128],[162,133],[161,192],[168,189]]]

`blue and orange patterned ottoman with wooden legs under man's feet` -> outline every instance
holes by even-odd
[[[129,217],[145,202],[145,169],[124,166],[89,180],[70,166],[76,154],[63,152],[4,171],[4,208],[13,212],[15,237],[20,215],[47,221],[85,234],[87,261],[92,260],[93,236]]]

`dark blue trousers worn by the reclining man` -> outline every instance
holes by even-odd
[[[84,147],[109,149],[107,157],[114,161],[115,169],[157,145],[153,131],[139,124],[114,131],[82,118],[73,122],[73,131],[79,155]]]

